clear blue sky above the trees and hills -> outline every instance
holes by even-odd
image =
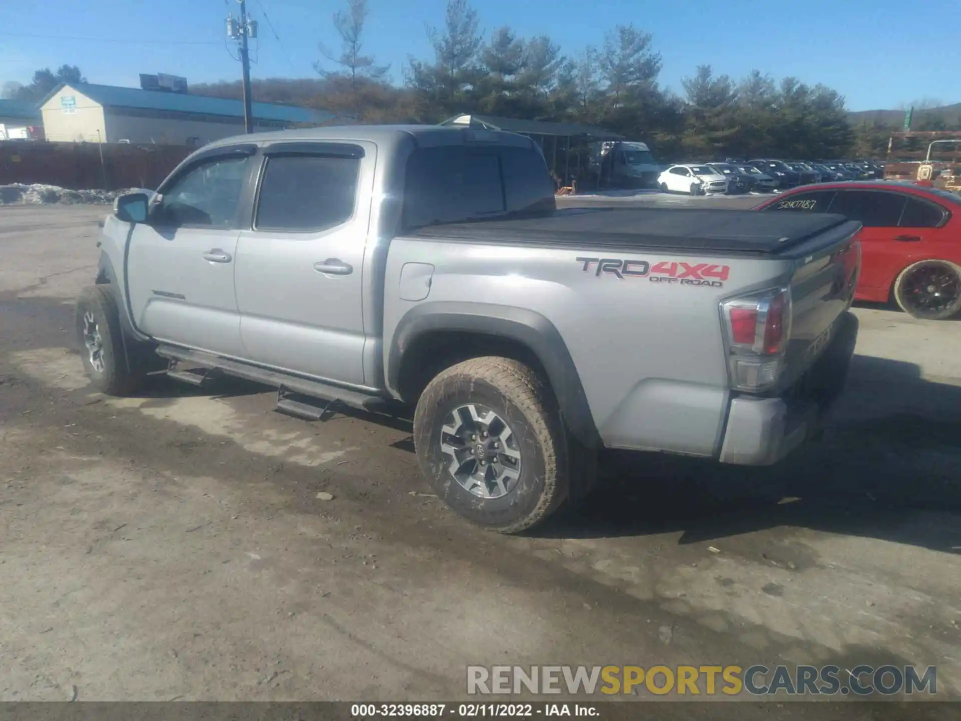
[[[959,0],[475,0],[474,5],[481,27],[507,24],[522,36],[547,34],[571,54],[600,43],[615,23],[633,22],[653,33],[664,59],[661,82],[675,89],[699,63],[709,63],[716,73],[735,78],[758,68],[778,78],[824,83],[846,96],[850,110],[898,108],[924,98],[961,101],[961,43],[953,33],[961,27]],[[339,0],[248,0],[260,21],[253,76],[312,75],[317,42],[334,44],[331,15],[338,6]],[[416,5],[369,0],[369,6],[365,50],[392,63],[400,82],[408,54],[431,58],[425,26],[443,21],[445,0]],[[224,18],[238,7],[236,0],[6,2],[0,83],[26,82],[37,67],[63,62],[79,64],[91,83],[107,85],[136,87],[140,72],[183,75],[193,83],[235,79],[240,67],[224,46]],[[939,28],[951,32],[942,35]]]

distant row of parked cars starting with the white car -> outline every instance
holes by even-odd
[[[779,161],[758,159],[678,163],[657,178],[664,192],[690,195],[776,192],[810,183],[876,180],[884,164],[873,161]]]

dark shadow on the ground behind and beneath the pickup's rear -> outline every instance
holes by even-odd
[[[600,476],[577,513],[536,535],[680,530],[680,543],[695,543],[796,526],[961,554],[961,386],[856,356],[824,440],[776,466],[609,453]],[[918,510],[947,517],[923,522]]]

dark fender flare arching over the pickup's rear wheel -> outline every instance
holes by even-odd
[[[415,306],[401,318],[390,342],[388,388],[397,389],[404,354],[417,338],[444,331],[503,337],[526,346],[547,373],[568,430],[587,448],[601,446],[601,436],[567,344],[554,323],[536,311],[456,301]]]

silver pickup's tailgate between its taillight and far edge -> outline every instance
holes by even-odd
[[[860,224],[845,223],[800,247],[791,278],[791,335],[781,388],[793,385],[824,352],[838,318],[850,308],[861,269]]]

